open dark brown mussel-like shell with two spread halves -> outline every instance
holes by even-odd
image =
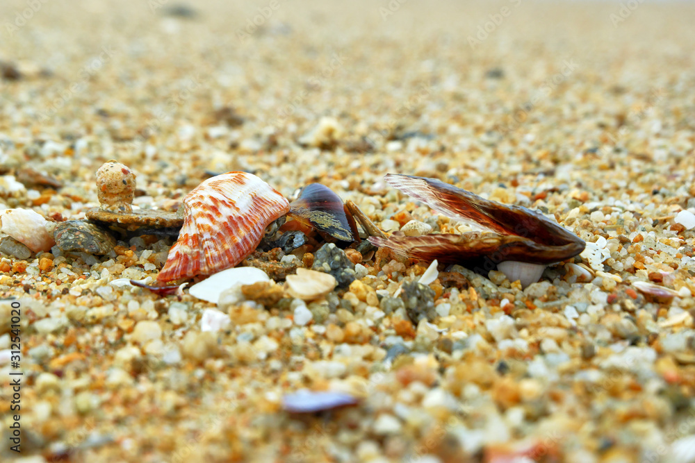
[[[489,259],[548,264],[581,253],[586,244],[569,230],[540,212],[517,205],[483,199],[434,178],[388,174],[393,187],[452,219],[473,221],[491,233],[407,237],[394,233],[388,239],[369,237],[379,247],[400,255],[440,262],[476,262]]]

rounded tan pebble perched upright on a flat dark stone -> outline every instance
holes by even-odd
[[[131,212],[135,196],[135,174],[116,160],[104,162],[97,170],[97,197],[101,208]]]

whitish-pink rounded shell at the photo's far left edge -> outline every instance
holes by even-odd
[[[47,228],[51,222],[31,209],[0,210],[0,231],[24,244],[31,251],[50,251],[56,242]]]

